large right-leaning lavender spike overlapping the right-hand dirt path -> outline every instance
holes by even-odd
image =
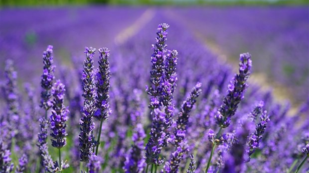
[[[226,128],[230,125],[231,117],[235,114],[238,104],[244,98],[245,90],[248,87],[246,84],[249,78],[252,61],[249,53],[240,54],[239,74],[235,75],[228,85],[228,94],[224,97],[223,104],[215,115],[216,123]]]

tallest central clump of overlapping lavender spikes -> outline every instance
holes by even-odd
[[[146,86],[146,92],[151,96],[149,108],[153,115],[151,137],[146,144],[146,172],[149,165],[152,165],[154,172],[162,164],[159,157],[161,149],[168,145],[169,127],[171,116],[174,110],[172,94],[175,89],[177,51],[166,50],[166,36],[169,25],[162,23],[158,25],[156,32],[156,43],[153,45],[151,86]]]

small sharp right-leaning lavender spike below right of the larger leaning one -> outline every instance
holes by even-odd
[[[256,125],[254,134],[251,134],[248,139],[248,149],[247,153],[249,157],[259,148],[260,141],[263,137],[263,134],[266,130],[267,123],[270,121],[267,111],[265,110],[260,116],[260,122]],[[250,158],[247,162],[250,161]]]

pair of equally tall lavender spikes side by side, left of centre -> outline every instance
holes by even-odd
[[[97,157],[103,121],[107,120],[111,113],[108,102],[110,97],[109,88],[111,78],[108,61],[110,50],[108,48],[99,49],[99,68],[95,75],[96,83],[94,83],[95,78],[93,72],[93,58],[95,51],[96,49],[92,47],[86,47],[86,60],[84,61],[84,70],[82,74],[82,87],[84,91],[82,96],[84,97],[84,107],[82,109],[82,118],[80,120],[81,131],[79,134],[80,161],[82,162],[90,161],[90,157],[92,158],[91,162],[94,162],[94,159]],[[92,117],[95,117],[100,121],[97,141],[95,141],[94,137],[93,130],[95,123],[93,122]],[[90,167],[92,168],[93,166],[89,162],[87,169],[89,170]]]

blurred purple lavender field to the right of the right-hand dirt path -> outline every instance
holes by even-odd
[[[254,71],[265,73],[272,84],[288,87],[296,102],[309,96],[308,7],[195,7],[171,12],[228,60],[235,62],[238,52],[250,52]]]

